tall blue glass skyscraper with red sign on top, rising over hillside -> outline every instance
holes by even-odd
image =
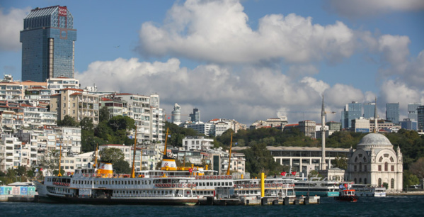
[[[74,17],[66,6],[36,8],[23,20],[22,80],[74,78]]]

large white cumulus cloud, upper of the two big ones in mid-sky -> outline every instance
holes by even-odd
[[[163,25],[143,23],[137,50],[230,64],[338,62],[353,54],[355,37],[342,22],[321,26],[294,13],[264,16],[253,30],[239,1],[188,0],[175,4]]]

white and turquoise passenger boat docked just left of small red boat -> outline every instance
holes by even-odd
[[[297,196],[316,195],[316,196],[339,196],[339,182],[321,180],[319,177],[295,178],[294,179]]]

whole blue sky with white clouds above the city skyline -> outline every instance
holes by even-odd
[[[201,121],[340,121],[345,104],[424,104],[424,1],[0,1],[0,72],[21,79],[20,31],[36,7],[74,16],[81,88],[157,93]],[[334,111],[336,113],[330,113]]]

